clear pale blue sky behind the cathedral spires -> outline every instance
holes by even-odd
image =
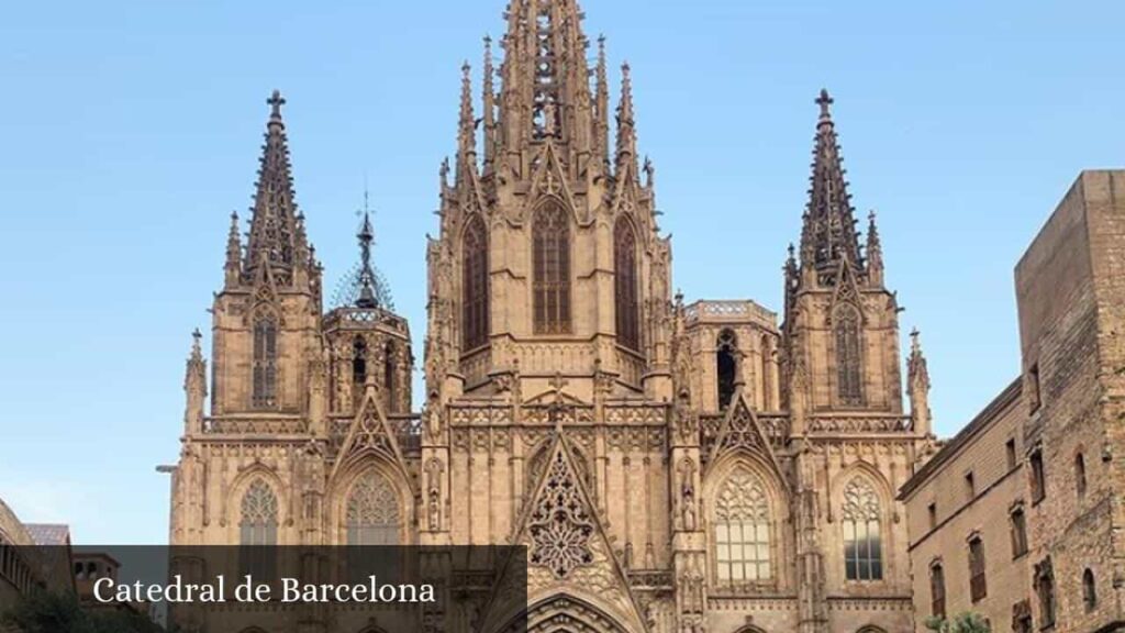
[[[166,538],[183,360],[286,119],[326,287],[377,262],[425,324],[424,238],[459,68],[504,0],[9,2],[0,8],[0,497],[82,543]],[[876,208],[902,331],[952,434],[1018,372],[1012,267],[1079,170],[1125,159],[1125,5],[586,0],[633,70],[690,301],[780,307],[821,87],[857,211]],[[614,73],[616,75],[616,73]]]

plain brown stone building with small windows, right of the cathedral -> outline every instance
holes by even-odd
[[[1125,628],[1122,191],[1074,182],[1016,267],[1023,375],[902,489],[919,622]]]

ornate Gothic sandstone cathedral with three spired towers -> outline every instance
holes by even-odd
[[[781,319],[686,303],[628,65],[611,97],[575,0],[505,17],[480,100],[465,68],[441,170],[420,413],[367,219],[351,292],[324,310],[270,99],[209,375],[201,337],[188,360],[171,543],[523,544],[543,633],[912,631],[896,491],[934,445],[929,378],[915,338],[902,393],[899,307],[831,99]],[[512,630],[478,598],[436,622]]]

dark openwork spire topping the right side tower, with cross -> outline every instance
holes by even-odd
[[[862,269],[855,216],[836,137],[830,106],[832,98],[821,90],[817,98],[817,122],[809,205],[801,235],[801,264],[813,267],[822,279],[835,273],[842,259]],[[830,282],[828,282],[830,283]]]

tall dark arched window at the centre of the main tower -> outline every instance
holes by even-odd
[[[532,233],[536,333],[569,333],[570,225],[562,206],[540,208]]]

